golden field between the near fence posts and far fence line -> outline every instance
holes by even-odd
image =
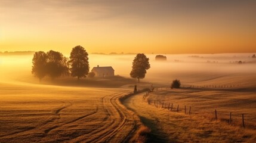
[[[242,114],[245,115],[245,124],[248,128],[256,129],[256,98],[254,89],[173,89],[153,92],[149,100],[171,103],[174,110],[184,113],[184,106],[192,107],[192,114],[207,114],[208,117],[229,122],[232,112],[232,123],[241,126]],[[152,103],[153,104],[153,103]]]

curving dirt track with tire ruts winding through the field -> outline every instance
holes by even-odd
[[[127,131],[125,136],[118,137],[119,141],[127,140],[127,136],[134,133],[134,118],[127,110],[118,104],[119,97],[125,95],[123,92],[118,92],[112,95],[103,97],[103,108],[106,114],[106,124],[98,129],[93,130],[87,135],[81,135],[73,139],[72,142],[110,142],[120,130]],[[130,123],[128,125],[128,122]],[[126,129],[132,126],[132,129]],[[85,140],[86,139],[86,140]]]

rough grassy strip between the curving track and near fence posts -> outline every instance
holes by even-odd
[[[143,100],[143,94],[127,98],[124,105],[152,129],[152,142],[254,142],[256,139],[252,130],[244,130],[203,116],[189,116],[156,108]]]

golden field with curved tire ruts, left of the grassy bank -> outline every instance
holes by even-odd
[[[0,84],[0,92],[0,142],[128,142],[140,124],[119,102],[126,89]]]

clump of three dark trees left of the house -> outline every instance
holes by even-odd
[[[89,73],[88,53],[82,46],[75,46],[70,57],[57,51],[35,52],[32,60],[32,74],[41,81],[45,76],[52,80],[60,76],[86,77]]]

